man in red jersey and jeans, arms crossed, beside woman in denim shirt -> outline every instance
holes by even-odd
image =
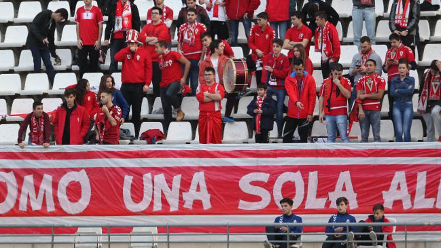
[[[372,126],[372,134],[375,142],[381,142],[380,138],[380,101],[383,98],[386,81],[375,73],[377,64],[375,60],[368,59],[365,64],[366,76],[360,78],[356,92],[358,99],[358,119],[360,120],[361,142],[367,142],[369,138],[369,126]]]

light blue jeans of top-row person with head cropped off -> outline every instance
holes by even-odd
[[[352,8],[352,25],[354,29],[354,45],[360,50],[360,38],[363,31],[363,21],[366,25],[366,34],[375,45],[375,8]]]

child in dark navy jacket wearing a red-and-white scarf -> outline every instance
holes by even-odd
[[[257,96],[248,104],[247,114],[253,117],[251,128],[254,130],[256,143],[269,143],[270,131],[273,130],[276,101],[267,95],[267,86],[257,86]]]

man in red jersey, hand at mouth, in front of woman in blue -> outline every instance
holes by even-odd
[[[122,110],[112,102],[113,93],[110,89],[104,89],[100,93],[100,104],[95,120],[96,140],[101,145],[119,144],[119,126],[121,123]]]

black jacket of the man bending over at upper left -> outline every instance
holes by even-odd
[[[37,47],[39,49],[49,49],[51,56],[57,58],[54,43],[56,24],[55,20],[51,18],[51,15],[52,11],[45,10],[35,16],[29,29],[26,46],[28,46],[28,48]],[[49,45],[43,43],[43,40],[46,38],[48,38]]]

